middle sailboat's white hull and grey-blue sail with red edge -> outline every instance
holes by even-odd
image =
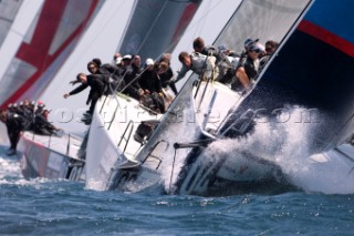
[[[171,52],[200,3],[199,0],[136,1],[117,52],[138,54],[142,59],[158,59]],[[146,141],[134,138],[134,134],[142,121],[154,124],[162,117],[163,114],[122,93],[98,101],[88,131],[86,186],[105,189],[116,160],[122,161],[122,166],[138,166],[135,156]]]

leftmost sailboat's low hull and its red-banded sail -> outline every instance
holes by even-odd
[[[20,6],[22,1],[12,2],[18,2]],[[9,103],[25,99],[37,101],[42,95],[103,2],[101,0],[85,1],[84,4],[75,0],[42,2],[0,80],[2,109]],[[15,7],[13,3],[12,6]],[[81,143],[82,138],[72,134],[54,137],[24,132],[18,145],[24,177],[63,177],[83,181],[84,161],[77,156]]]

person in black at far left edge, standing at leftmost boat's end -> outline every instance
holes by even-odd
[[[0,112],[0,121],[7,125],[8,136],[10,140],[10,148],[8,150],[7,154],[9,156],[15,155],[17,146],[20,140],[20,133],[24,127],[24,117],[14,112],[2,110]]]

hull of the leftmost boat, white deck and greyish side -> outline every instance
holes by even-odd
[[[21,170],[27,178],[85,179],[85,161],[77,156],[82,140],[75,136],[43,136],[24,132],[18,144]]]

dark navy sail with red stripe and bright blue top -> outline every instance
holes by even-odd
[[[314,1],[235,114],[262,109],[274,116],[275,110],[303,107],[310,113],[311,136],[299,135],[309,142],[310,152],[343,143],[354,129],[353,7],[350,0]]]

